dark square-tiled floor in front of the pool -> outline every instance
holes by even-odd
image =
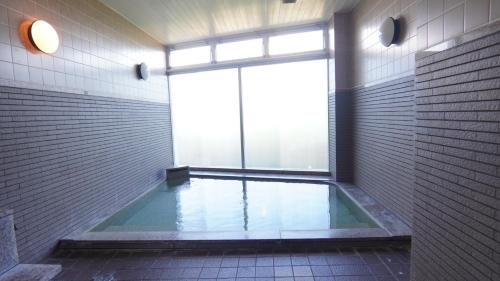
[[[361,281],[409,280],[409,248],[333,248],[325,251],[171,252],[60,251],[55,280]]]

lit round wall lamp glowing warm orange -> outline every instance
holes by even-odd
[[[48,22],[35,20],[28,28],[28,37],[33,46],[46,54],[52,54],[59,47],[59,35]]]

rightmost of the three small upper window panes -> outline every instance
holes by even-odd
[[[269,54],[283,55],[322,50],[323,30],[292,33],[269,37]]]

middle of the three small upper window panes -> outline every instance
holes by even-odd
[[[262,38],[217,44],[217,61],[262,57]]]

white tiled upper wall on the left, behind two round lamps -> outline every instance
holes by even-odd
[[[32,54],[18,37],[23,19],[51,23],[53,55]],[[135,64],[146,62],[148,81]],[[0,0],[0,85],[168,102],[163,46],[97,0]]]

